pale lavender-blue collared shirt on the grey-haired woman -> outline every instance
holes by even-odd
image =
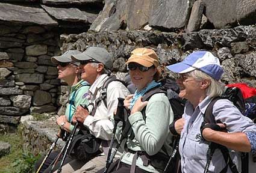
[[[181,169],[184,173],[204,172],[207,162],[208,141],[202,139],[200,127],[204,120],[203,114],[211,101],[210,97],[206,97],[195,110],[191,103],[187,102],[183,114],[185,124],[181,132],[180,154]],[[229,133],[243,132],[255,133],[256,125],[249,118],[243,116],[240,111],[227,99],[220,99],[213,106],[213,115],[215,120],[220,120],[226,124]],[[240,153],[229,150],[233,162],[240,170]],[[225,167],[225,160],[222,153],[217,149],[213,154],[208,172],[220,172]],[[231,170],[228,168],[228,172]]]

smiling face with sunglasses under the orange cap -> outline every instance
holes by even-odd
[[[133,65],[133,68],[129,68],[130,65]],[[134,62],[130,62],[128,64],[128,68],[130,69],[131,82],[134,83],[139,91],[142,90],[142,88],[146,87],[146,85],[148,85],[148,83],[150,83],[154,79],[157,68],[153,67],[148,67],[147,69],[143,65]],[[142,71],[140,70],[140,68],[146,69],[146,71]]]

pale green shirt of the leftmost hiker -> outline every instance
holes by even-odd
[[[80,85],[86,85],[86,86],[81,86]],[[69,102],[66,104],[66,111],[65,115],[67,117],[67,121],[72,121],[73,114],[75,114],[76,107],[79,105],[87,105],[89,101],[84,98],[84,94],[87,93],[89,90],[90,85],[88,82],[85,80],[80,80],[76,85],[72,85],[70,87],[70,94],[69,94]],[[75,92],[76,91],[76,92]],[[73,94],[75,94],[73,96]],[[71,99],[74,97],[74,103],[70,105]],[[70,126],[70,130],[73,130],[73,125]]]

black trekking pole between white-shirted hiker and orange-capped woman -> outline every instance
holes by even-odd
[[[123,106],[123,100],[125,100],[125,99],[118,98],[116,115],[114,115],[114,129],[113,129],[113,133],[112,133],[112,137],[111,137],[111,141],[110,141],[110,147],[108,148],[108,156],[107,156],[105,168],[103,171],[104,173],[106,173],[108,171],[108,168],[110,167],[110,164],[113,161],[113,159],[111,159],[111,154],[112,154],[112,148],[113,148],[113,144],[114,144],[114,136],[116,135],[117,124],[119,123],[119,121],[122,121],[122,119],[123,119],[123,110],[125,109]],[[117,148],[117,146],[116,146],[116,148]],[[116,153],[116,151],[114,151],[114,153]],[[116,155],[116,154],[114,154],[114,155]]]

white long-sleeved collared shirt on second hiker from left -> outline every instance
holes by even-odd
[[[92,112],[93,106],[95,105],[95,100],[98,97],[101,97],[102,94],[102,86],[105,80],[108,79],[107,74],[102,74],[95,80],[93,85],[90,87],[88,93],[89,96],[89,112]],[[104,139],[109,141],[111,139],[112,131],[114,125],[111,120],[113,120],[113,112],[117,108],[117,103],[119,97],[125,98],[130,92],[123,85],[123,83],[119,81],[113,81],[108,84],[107,87],[107,98],[106,103],[107,107],[104,105],[104,101],[102,100],[96,109],[95,115],[88,115],[86,120],[84,120],[84,126],[90,129],[90,133],[94,135],[96,138]]]

